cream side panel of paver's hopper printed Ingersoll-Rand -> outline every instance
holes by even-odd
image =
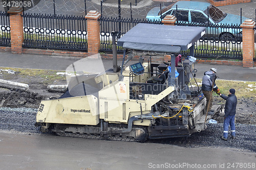
[[[97,125],[99,123],[98,99],[94,95],[87,95],[42,101],[36,122]]]

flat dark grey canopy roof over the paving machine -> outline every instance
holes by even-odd
[[[181,50],[188,50],[204,34],[203,27],[139,23],[125,33],[117,45],[139,51],[180,53]]]

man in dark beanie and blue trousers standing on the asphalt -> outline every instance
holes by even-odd
[[[235,92],[236,92],[236,90],[231,88],[229,90],[228,96],[220,93],[221,98],[226,100],[225,111],[224,111],[225,112],[224,124],[223,124],[224,133],[222,136],[223,140],[227,140],[229,125],[230,125],[230,129],[231,129],[232,139],[234,139],[236,137],[236,127],[234,126],[234,115],[236,114],[238,100],[237,100],[237,96],[234,95]]]

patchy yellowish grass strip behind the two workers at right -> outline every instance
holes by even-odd
[[[202,79],[196,79],[198,83],[202,84]],[[191,81],[192,85],[196,85],[195,81]],[[199,86],[202,86],[202,85]],[[216,85],[219,87],[221,93],[228,95],[229,89],[236,89],[236,96],[241,98],[252,98],[253,102],[256,102],[256,82],[247,81],[230,81],[230,80],[216,80]],[[218,96],[215,92],[214,96]]]

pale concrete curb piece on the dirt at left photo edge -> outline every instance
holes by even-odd
[[[20,91],[28,91],[29,90],[28,84],[17,83],[17,82],[12,82],[12,81],[8,81],[8,80],[2,80],[2,79],[0,79],[0,87],[8,88],[8,89],[17,89]]]

